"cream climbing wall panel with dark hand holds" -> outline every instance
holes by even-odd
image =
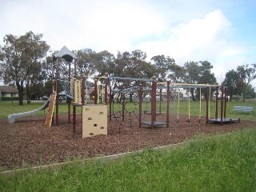
[[[107,134],[106,105],[82,106],[82,138]]]

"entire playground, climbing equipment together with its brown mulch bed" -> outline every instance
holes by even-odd
[[[93,78],[82,74],[79,79],[76,70],[74,77],[69,73],[68,79],[61,79],[58,60],[72,62],[74,58],[65,46],[53,58],[53,92],[42,106],[0,118],[3,169],[167,146],[200,134],[225,134],[255,125],[238,115],[229,116],[225,85],[109,74]],[[65,105],[59,101],[61,89]],[[61,106],[66,106],[66,113],[60,113]],[[34,115],[46,109],[45,115]],[[235,109],[250,110],[248,115],[253,111],[253,107]]]

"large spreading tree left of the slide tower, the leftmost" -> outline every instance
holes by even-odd
[[[42,70],[42,61],[50,46],[42,41],[42,34],[32,31],[16,37],[7,34],[2,47],[2,77],[5,83],[15,82],[18,88],[19,105],[23,105],[24,84],[27,94],[32,79],[38,77]]]

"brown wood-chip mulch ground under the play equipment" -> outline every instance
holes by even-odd
[[[159,115],[157,121],[164,121],[165,114]],[[72,118],[72,116],[71,116]],[[143,120],[150,121],[143,116]],[[99,155],[119,154],[127,151],[141,150],[146,147],[166,146],[184,142],[198,134],[219,134],[242,130],[255,126],[254,121],[241,121],[220,126],[219,124],[198,123],[198,117],[180,116],[180,122],[170,118],[170,127],[150,129],[138,127],[133,115],[108,122],[108,135],[96,135],[82,138],[82,115],[77,115],[76,132],[73,123],[68,123],[67,115],[59,115],[59,125],[51,128],[45,126],[44,116],[18,118],[10,124],[0,118],[0,166],[3,169],[21,167],[24,163],[31,166],[64,162],[75,157],[93,158]]]

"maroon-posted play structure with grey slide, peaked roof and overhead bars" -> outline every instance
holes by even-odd
[[[68,79],[60,78],[59,62],[65,59],[69,65]],[[76,57],[74,54],[63,46],[62,50],[53,58],[53,94],[50,99],[38,110],[26,112],[25,114],[11,114],[9,122],[14,122],[14,118],[23,117],[22,115],[30,115],[38,112],[49,106],[46,115],[46,126],[50,127],[52,122],[58,126],[58,106],[60,96],[60,86],[66,93],[68,102],[68,122],[71,122],[71,105],[73,105],[73,131],[76,131],[76,115],[77,107],[82,107],[82,137],[90,137],[97,134],[107,134],[107,118],[109,121],[121,122],[125,119],[130,121],[130,127],[133,122],[138,122],[138,126],[166,126],[170,124],[170,108],[173,107],[170,103],[171,95],[174,96],[174,101],[177,101],[176,115],[178,123],[179,119],[179,102],[181,89],[188,90],[188,119],[190,120],[190,91],[191,89],[199,90],[199,114],[198,122],[202,122],[202,89],[206,89],[206,123],[217,122],[221,125],[225,122],[239,122],[238,118],[226,118],[226,86],[224,85],[209,85],[209,84],[187,84],[187,83],[172,83],[172,82],[157,82],[155,78],[122,78],[111,77],[105,74],[103,77],[94,77],[94,82],[90,81],[90,77],[82,74],[82,78],[77,78]],[[70,65],[74,62],[74,77],[70,74]],[[55,68],[54,68],[55,67]],[[54,73],[55,71],[55,73]],[[214,118],[210,118],[210,98],[212,95],[211,89],[215,89],[216,104]],[[90,90],[94,90],[93,95],[89,94]],[[162,91],[166,94],[162,94]],[[218,117],[218,93],[221,94],[221,114]],[[159,94],[159,98],[157,97]],[[150,98],[146,98],[150,95]],[[89,103],[90,97],[93,98],[93,103]],[[157,102],[158,100],[158,102]],[[162,111],[162,101],[166,101],[166,111]],[[73,102],[72,102],[73,101]],[[133,106],[128,109],[128,103]],[[148,106],[149,104],[149,106]],[[157,111],[158,104],[158,111]],[[107,105],[109,111],[107,112]],[[118,107],[116,107],[118,105]],[[55,119],[54,119],[55,106]],[[175,107],[175,106],[174,106]],[[148,109],[150,108],[150,110]],[[165,121],[158,121],[158,114],[166,114]],[[173,115],[173,114],[171,114]],[[131,118],[131,117],[135,118]],[[13,117],[13,118],[12,118]]]

